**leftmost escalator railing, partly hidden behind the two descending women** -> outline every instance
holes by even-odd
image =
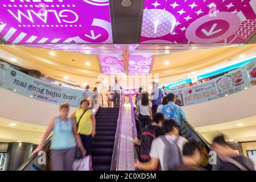
[[[89,98],[88,98],[88,101],[92,100],[93,96],[95,96],[96,94],[98,94],[98,90],[96,90]],[[98,109],[100,107],[103,106],[104,102],[103,102],[103,97],[102,97],[102,94],[100,92],[100,95],[101,95],[101,98],[102,98],[102,103],[96,103],[94,105],[94,107],[92,108],[93,110],[93,114],[95,115],[98,111]],[[42,148],[43,150],[46,150],[46,147],[48,146],[48,144],[51,142],[51,139],[52,139],[52,135],[50,135],[47,139],[46,139],[46,142],[44,142]],[[32,154],[18,169],[17,171],[23,171],[36,157],[38,156],[38,154]]]

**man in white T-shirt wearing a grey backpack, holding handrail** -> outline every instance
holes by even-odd
[[[182,163],[181,154],[184,144],[188,142],[187,139],[179,136],[179,129],[174,119],[163,122],[163,131],[165,135],[154,139],[152,142],[150,161],[146,163],[136,161],[135,168],[144,171],[157,170],[160,164],[163,171],[168,171],[175,169]]]

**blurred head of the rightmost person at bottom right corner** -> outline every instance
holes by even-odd
[[[217,155],[227,155],[230,147],[225,141],[224,135],[218,135],[212,141],[212,148],[216,151]]]

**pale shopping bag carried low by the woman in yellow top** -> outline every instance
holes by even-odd
[[[82,159],[76,159],[73,163],[73,171],[93,171],[92,156],[88,155]]]

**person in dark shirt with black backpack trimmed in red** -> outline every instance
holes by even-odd
[[[148,162],[150,160],[150,149],[152,141],[164,135],[162,126],[163,126],[164,116],[162,113],[156,113],[154,115],[153,121],[150,125],[144,127],[144,129],[139,133],[139,135],[135,138],[135,143],[141,146],[140,156],[142,162]]]

